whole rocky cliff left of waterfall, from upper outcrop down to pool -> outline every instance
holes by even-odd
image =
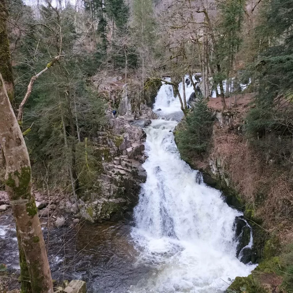
[[[78,200],[80,217],[90,222],[131,218],[140,184],[147,178],[141,166],[146,159],[143,144],[146,134],[137,125],[142,126],[145,119],[156,118],[146,104],[141,103],[139,109],[132,105],[127,84],[112,82],[100,92],[108,100],[108,109],[105,127],[90,138],[99,164],[96,183],[94,188],[82,192]],[[116,119],[113,109],[117,110]],[[72,202],[64,205],[68,212],[74,211]]]

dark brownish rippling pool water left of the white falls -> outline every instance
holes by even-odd
[[[43,235],[55,280],[81,279],[87,282],[87,292],[120,293],[127,292],[149,271],[135,264],[138,252],[130,237],[130,225],[81,221],[72,229],[53,228],[49,233],[46,225],[43,221]],[[0,215],[0,252],[0,263],[5,263],[9,272],[18,274],[18,244],[9,213]]]

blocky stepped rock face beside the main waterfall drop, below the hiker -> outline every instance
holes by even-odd
[[[143,144],[146,135],[142,128],[121,116],[110,119],[109,128],[98,132],[93,139],[97,148],[104,149],[103,170],[95,184],[98,190],[78,201],[80,216],[90,222],[115,221],[132,212],[138,202],[140,184],[147,178],[141,166],[146,159]]]

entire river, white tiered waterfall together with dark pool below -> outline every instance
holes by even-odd
[[[187,97],[192,92],[190,85]],[[233,224],[241,213],[180,159],[173,130],[182,114],[171,86],[161,86],[154,109],[164,119],[152,120],[145,129],[147,181],[134,221],[81,221],[74,229],[50,231],[47,248],[54,279],[85,280],[89,293],[212,293],[224,291],[228,278],[247,276],[255,268],[235,256]],[[47,238],[46,222],[42,226]],[[9,212],[0,217],[0,251],[0,263],[17,272]]]

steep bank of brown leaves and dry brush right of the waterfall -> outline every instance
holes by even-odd
[[[231,109],[220,110],[212,99],[209,109],[215,117],[207,151],[188,163],[204,173],[204,180],[224,191],[227,203],[241,209],[253,227],[251,261],[259,263],[247,278],[236,278],[230,289],[236,292],[290,292],[292,277],[293,186],[289,171],[248,142],[245,116],[251,95],[238,96]],[[229,100],[227,100],[229,105]],[[180,132],[184,121],[177,127]]]

